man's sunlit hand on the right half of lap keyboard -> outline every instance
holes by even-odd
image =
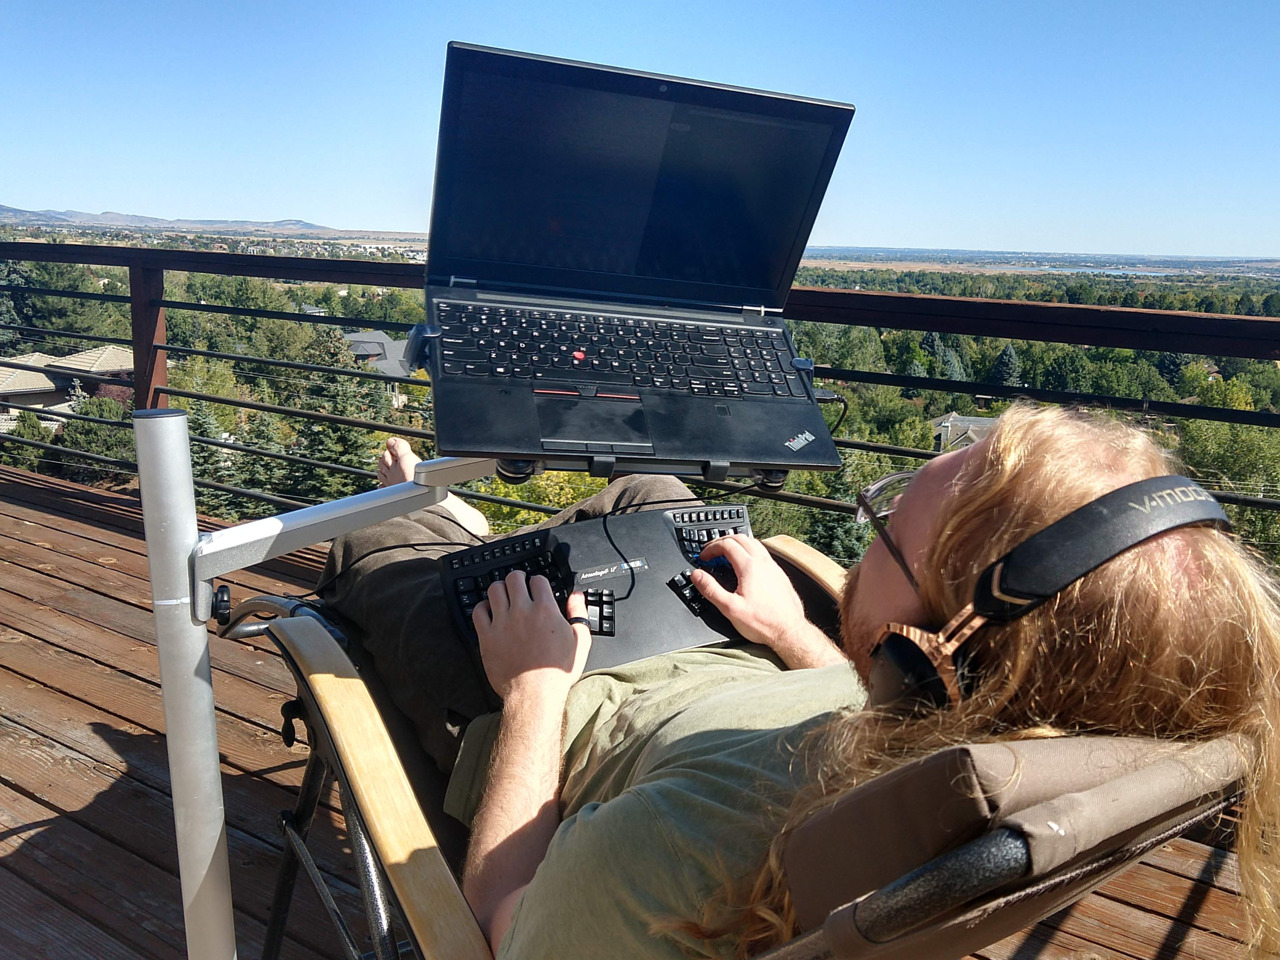
[[[723,536],[703,549],[701,559],[716,557],[733,567],[737,590],[730,593],[704,570],[694,571],[694,585],[745,639],[772,648],[791,669],[845,662],[827,635],[805,618],[791,580],[764,544],[742,534]]]

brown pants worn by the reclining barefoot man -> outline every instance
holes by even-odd
[[[659,500],[653,508],[663,509],[675,506],[666,500],[691,497],[671,476],[628,476],[526,529]],[[484,540],[443,507],[428,507],[334,540],[317,589],[442,771],[453,767],[467,722],[494,708],[474,644],[453,626],[440,577],[442,557]]]

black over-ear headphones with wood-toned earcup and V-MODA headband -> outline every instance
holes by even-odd
[[[973,602],[934,632],[887,623],[872,650],[872,707],[947,707],[973,692],[966,641],[988,623],[1010,623],[1085,573],[1166,530],[1231,521],[1204,488],[1185,476],[1121,486],[1068,513],[987,567]]]

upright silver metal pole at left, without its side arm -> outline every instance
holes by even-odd
[[[133,433],[160,652],[187,956],[236,960],[209,635],[204,622],[192,616],[191,603],[191,556],[200,535],[187,412],[136,411]]]

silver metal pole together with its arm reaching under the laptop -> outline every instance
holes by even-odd
[[[227,823],[205,621],[216,576],[300,547],[439,503],[448,484],[494,471],[494,461],[440,457],[412,484],[320,503],[200,535],[184,410],[133,413],[142,524],[151,570],[178,873],[189,960],[236,960]]]

